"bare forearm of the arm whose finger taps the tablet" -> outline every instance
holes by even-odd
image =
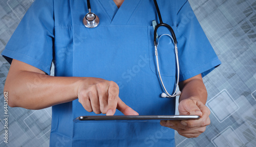
[[[42,109],[75,100],[79,79],[21,71],[7,76],[4,91],[11,107]]]

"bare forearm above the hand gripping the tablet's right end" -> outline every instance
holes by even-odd
[[[191,80],[181,82],[180,85],[182,94],[179,98],[179,102],[187,98],[193,98],[200,100],[203,104],[206,103],[207,91],[203,83],[201,74],[195,76],[195,78]]]

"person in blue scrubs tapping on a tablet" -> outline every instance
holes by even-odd
[[[175,98],[161,98],[151,0],[95,0],[100,23],[86,28],[87,1],[36,0],[2,52],[11,62],[4,91],[9,106],[52,106],[50,146],[175,146],[174,130],[198,137],[210,124],[202,76],[221,64],[186,0],[158,1],[177,36],[179,113],[194,121],[74,123],[80,115],[170,115]],[[158,35],[170,34],[159,28]],[[166,89],[174,90],[176,64],[170,38],[159,42]],[[50,76],[51,63],[55,76]],[[164,126],[164,127],[163,127]],[[166,128],[168,127],[168,128]],[[172,129],[169,129],[172,128]]]

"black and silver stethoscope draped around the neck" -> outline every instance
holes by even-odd
[[[163,89],[165,91],[165,93],[162,93],[161,94],[161,97],[162,98],[173,98],[173,97],[176,97],[176,96],[179,96],[181,95],[181,92],[178,91],[178,82],[179,82],[179,77],[180,77],[180,67],[179,67],[179,58],[178,58],[178,48],[177,48],[177,39],[176,39],[176,36],[175,36],[175,33],[173,31],[173,28],[170,27],[168,24],[166,23],[163,23],[162,21],[162,16],[160,14],[160,11],[159,11],[159,8],[158,8],[158,5],[157,5],[157,1],[154,0],[154,4],[155,4],[155,7],[157,9],[157,14],[158,14],[158,18],[159,18],[159,21],[160,23],[159,24],[156,24],[156,21],[153,20],[152,23],[153,23],[153,26],[154,26],[154,46],[155,46],[155,55],[156,55],[156,61],[157,61],[157,71],[158,71],[158,75],[159,75],[159,79],[161,81],[161,84],[163,86]],[[83,24],[84,26],[88,27],[88,28],[94,28],[96,26],[98,26],[99,24],[99,17],[97,15],[95,15],[94,13],[91,12],[91,5],[90,5],[90,0],[87,0],[87,8],[88,8],[88,11],[89,13],[86,14],[86,16],[84,16],[83,18]],[[168,35],[168,34],[163,34],[161,36],[158,37],[157,35],[157,29],[160,27],[160,26],[164,26],[166,28],[168,28],[168,30],[170,31],[170,33],[172,34],[172,36]],[[173,43],[174,43],[174,46],[175,46],[175,57],[176,57],[176,65],[177,65],[177,76],[176,76],[176,83],[175,83],[175,90],[173,92],[172,95],[170,95],[165,86],[164,86],[164,83],[163,83],[163,80],[162,80],[162,77],[161,77],[161,74],[160,74],[160,70],[159,70],[159,62],[158,62],[158,52],[157,52],[157,47],[158,47],[158,44],[159,44],[159,40],[162,36],[168,36],[172,39]]]

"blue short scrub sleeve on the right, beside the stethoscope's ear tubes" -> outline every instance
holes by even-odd
[[[180,81],[207,75],[221,64],[188,1],[177,13]]]

